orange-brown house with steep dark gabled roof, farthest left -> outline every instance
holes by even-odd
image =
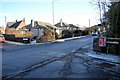
[[[5,34],[15,35],[15,37],[31,37],[31,32],[22,29],[24,26],[26,26],[25,18],[21,21],[16,20],[16,22],[8,22],[5,29]]]

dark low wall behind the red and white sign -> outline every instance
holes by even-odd
[[[120,38],[106,38],[106,46],[99,46],[99,39],[95,38],[93,41],[93,50],[102,53],[112,53],[120,55]]]

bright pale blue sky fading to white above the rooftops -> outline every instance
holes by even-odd
[[[52,24],[52,1],[53,0],[1,0],[0,1],[0,26],[7,22],[22,20],[25,18],[26,24],[30,20],[48,22]],[[69,24],[79,24],[91,26],[99,23],[99,13],[95,6],[90,4],[90,0],[56,0],[54,2],[55,23],[60,19]]]

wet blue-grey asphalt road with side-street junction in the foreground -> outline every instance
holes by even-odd
[[[92,49],[93,36],[36,46],[3,48],[3,77],[9,78],[118,78],[105,72],[108,62],[84,53]],[[108,68],[115,65],[107,64]]]

